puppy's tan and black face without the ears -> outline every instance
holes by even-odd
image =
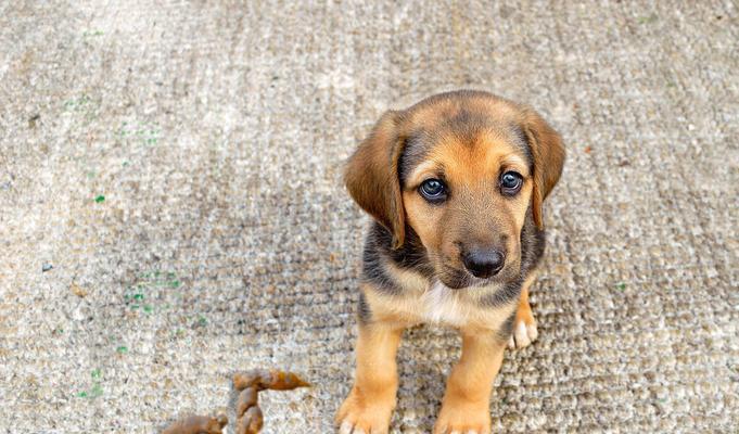
[[[514,126],[458,116],[433,116],[433,130],[415,126],[408,139],[399,165],[407,222],[447,286],[507,282],[520,269],[532,162]]]

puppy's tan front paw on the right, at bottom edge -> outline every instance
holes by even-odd
[[[434,425],[434,434],[489,434],[490,412],[487,401],[444,399]]]

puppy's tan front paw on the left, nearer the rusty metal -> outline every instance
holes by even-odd
[[[340,434],[387,434],[395,397],[364,396],[353,388],[336,413]]]

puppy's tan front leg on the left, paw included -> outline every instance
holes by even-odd
[[[359,324],[354,387],[336,413],[344,433],[386,433],[398,386],[395,355],[403,329],[374,322]]]

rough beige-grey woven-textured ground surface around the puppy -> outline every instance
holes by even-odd
[[[487,89],[569,159],[539,340],[497,432],[739,431],[739,13],[731,1],[0,2],[0,432],[150,433],[265,393],[328,433],[367,218],[341,167],[387,107]],[[406,333],[395,433],[459,355]]]

